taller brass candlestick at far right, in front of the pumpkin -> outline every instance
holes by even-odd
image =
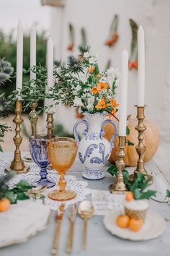
[[[130,175],[130,179],[134,179],[136,174],[144,174],[146,175],[147,179],[152,180],[152,176],[148,175],[148,172],[146,171],[146,168],[144,166],[143,161],[143,155],[146,151],[146,146],[143,144],[143,132],[146,130],[146,126],[143,123],[143,120],[145,119],[145,108],[146,106],[137,106],[137,119],[138,119],[138,126],[135,127],[135,129],[138,131],[138,145],[135,147],[136,152],[138,153],[138,163],[137,167],[132,175]]]

